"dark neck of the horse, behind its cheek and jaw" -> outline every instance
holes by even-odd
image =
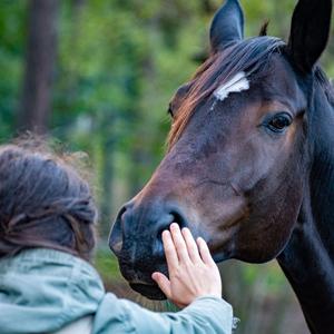
[[[277,257],[312,333],[334,333],[334,110],[322,90],[310,119],[312,164],[295,229]]]

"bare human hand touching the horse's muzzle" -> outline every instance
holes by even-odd
[[[196,245],[190,230],[174,223],[170,232],[164,230],[163,243],[169,279],[163,273],[151,277],[168,299],[185,307],[202,296],[222,297],[220,274],[203,238]]]

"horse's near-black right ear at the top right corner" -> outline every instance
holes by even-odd
[[[311,72],[326,48],[332,0],[299,0],[292,19],[288,53],[304,73]]]

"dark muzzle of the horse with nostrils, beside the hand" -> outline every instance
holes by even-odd
[[[136,206],[132,200],[120,209],[110,233],[109,247],[118,258],[122,276],[134,291],[150,299],[166,298],[151,274],[168,275],[161,233],[175,222],[187,226],[175,206]]]

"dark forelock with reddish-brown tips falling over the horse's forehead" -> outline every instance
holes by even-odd
[[[208,98],[220,85],[227,82],[237,72],[247,76],[261,71],[268,65],[271,56],[281,50],[286,43],[274,37],[255,37],[212,55],[199,67],[190,81],[190,89],[177,110],[169,136],[168,149],[179,139],[196,108]]]

